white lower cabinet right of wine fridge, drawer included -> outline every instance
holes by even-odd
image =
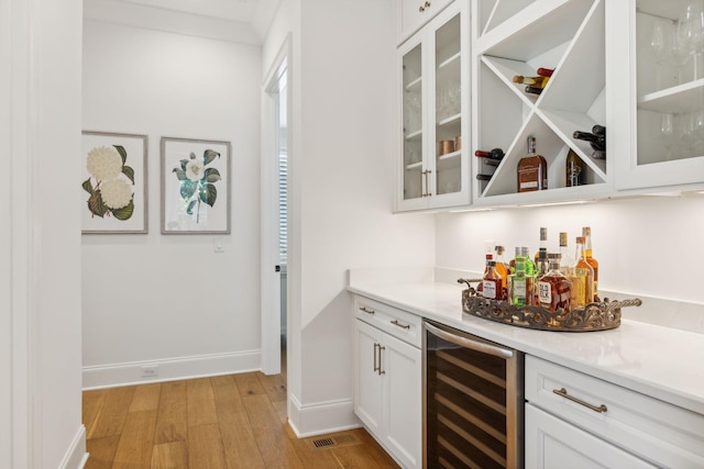
[[[526,356],[526,468],[702,468],[704,415]]]

